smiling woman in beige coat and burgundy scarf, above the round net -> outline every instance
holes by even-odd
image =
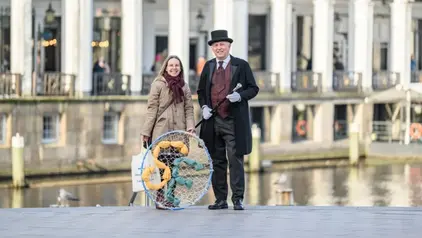
[[[141,131],[144,147],[170,131],[195,133],[192,94],[183,75],[183,65],[179,57],[167,57],[151,84]],[[163,191],[158,190],[157,199],[163,199],[162,193]]]

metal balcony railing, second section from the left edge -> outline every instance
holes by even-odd
[[[39,96],[73,96],[75,75],[60,72],[44,72],[33,77],[32,94]]]

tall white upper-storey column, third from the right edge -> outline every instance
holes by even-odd
[[[312,70],[322,75],[323,91],[332,91],[334,0],[314,0]]]

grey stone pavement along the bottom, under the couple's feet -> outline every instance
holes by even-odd
[[[421,208],[71,207],[0,210],[0,237],[422,237]]]

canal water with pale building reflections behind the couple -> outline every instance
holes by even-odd
[[[312,206],[420,206],[422,205],[422,164],[380,165],[363,168],[315,168],[273,171],[247,175],[245,204],[276,205],[281,174],[291,180],[296,205]],[[110,176],[104,177],[110,179]],[[113,175],[115,176],[115,175]],[[130,175],[128,175],[130,176]],[[97,177],[98,178],[98,177]],[[86,179],[86,178],[82,178]],[[130,178],[129,178],[130,179]],[[50,179],[50,182],[54,179]],[[0,189],[0,207],[49,207],[64,188],[78,196],[70,206],[127,206],[131,182],[46,186],[25,190]],[[229,195],[230,196],[230,195]],[[142,203],[138,196],[136,203]],[[141,199],[141,200],[140,200]],[[210,188],[198,205],[214,201]]]

